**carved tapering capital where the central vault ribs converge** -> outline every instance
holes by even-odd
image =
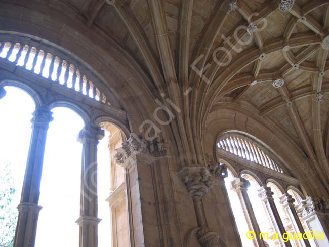
[[[212,187],[212,176],[205,167],[185,167],[180,174],[194,202],[200,201]]]

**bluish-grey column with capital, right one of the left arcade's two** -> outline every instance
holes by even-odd
[[[86,125],[77,140],[83,144],[81,166],[79,246],[95,247],[98,244],[97,225],[97,144],[104,131],[97,126]]]

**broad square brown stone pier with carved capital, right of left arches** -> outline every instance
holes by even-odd
[[[129,246],[170,246],[156,172],[157,164],[167,158],[165,140],[131,134],[116,151],[115,161],[125,169]]]

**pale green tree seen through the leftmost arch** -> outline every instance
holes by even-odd
[[[0,163],[0,247],[14,246],[17,191],[10,162]]]

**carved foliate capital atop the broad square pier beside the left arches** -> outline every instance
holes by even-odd
[[[168,144],[163,138],[156,137],[152,141],[148,141],[142,136],[131,133],[129,139],[122,142],[122,147],[116,149],[115,162],[122,164],[133,153],[144,153],[156,158],[166,157],[168,156]]]

